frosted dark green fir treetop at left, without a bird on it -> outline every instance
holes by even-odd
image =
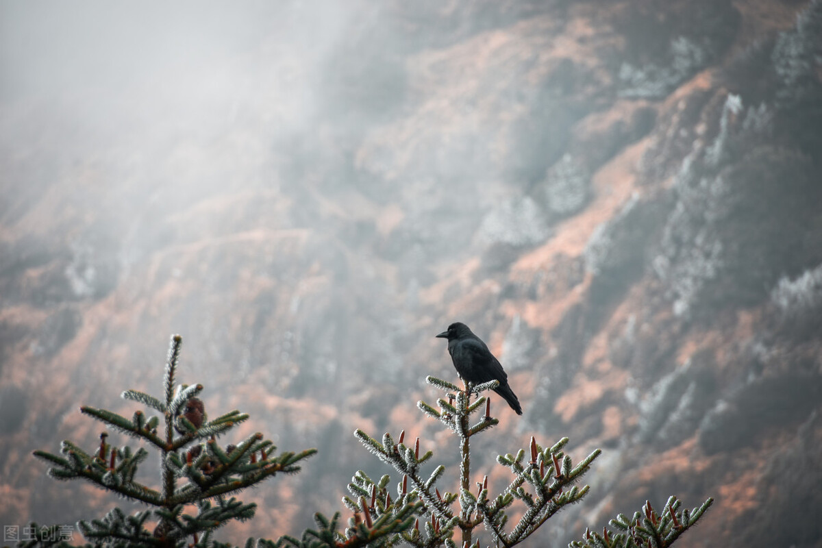
[[[149,452],[142,447],[114,447],[107,442],[106,432],[90,452],[68,440],[62,442],[60,454],[35,451],[36,457],[48,463],[48,475],[55,479],[85,479],[150,507],[133,515],[115,508],[104,518],[78,523],[83,536],[95,546],[218,546],[210,540],[218,527],[250,519],[256,509],[256,504],[243,503],[231,495],[277,473],[298,472],[298,464],[316,453],[316,449],[307,449],[276,454],[274,444],[260,433],[236,445],[219,444],[217,436],[246,421],[248,415],[235,410],[207,420],[205,407],[197,398],[203,386],[175,383],[181,346],[182,338],[174,335],[165,366],[163,398],[136,390],[122,393],[123,398],[145,405],[145,412],[137,411],[127,418],[105,409],[80,409],[159,451],[159,487],[135,480],[137,468]],[[152,412],[157,414],[147,416]]]

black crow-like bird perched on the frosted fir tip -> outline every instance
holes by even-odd
[[[483,340],[473,334],[468,325],[458,321],[436,336],[448,339],[448,353],[460,379],[473,385],[499,380],[500,385],[494,392],[505,398],[517,415],[522,415],[520,400],[508,385],[508,375],[502,371],[499,360],[488,350]]]

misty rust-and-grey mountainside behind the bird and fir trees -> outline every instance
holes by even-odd
[[[532,433],[605,451],[540,543],[676,494],[717,500],[683,546],[822,546],[822,3],[360,3],[206,4],[159,46],[106,12],[113,61],[7,61],[0,522],[120,504],[30,451],[159,391],[171,333],[209,410],[320,449],[237,535],[388,472],[355,427],[454,464],[415,403],[461,320],[525,411],[495,401],[492,481]]]

